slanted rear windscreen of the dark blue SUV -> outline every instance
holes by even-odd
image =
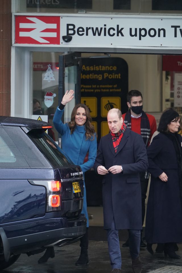
[[[47,158],[52,167],[74,165],[63,150],[42,129],[33,129],[27,133],[32,142]]]

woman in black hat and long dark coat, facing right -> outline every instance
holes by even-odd
[[[174,243],[182,241],[182,137],[179,114],[166,110],[158,131],[147,148],[151,173],[146,211],[145,237],[151,253],[152,243],[164,243],[164,254],[179,259]]]

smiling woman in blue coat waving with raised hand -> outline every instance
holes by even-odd
[[[57,107],[53,123],[55,129],[61,134],[62,148],[67,156],[75,165],[82,168],[83,173],[94,166],[97,154],[97,139],[94,126],[91,124],[92,118],[90,111],[85,104],[77,104],[71,113],[71,121],[63,124],[61,117],[64,112],[65,105],[74,98],[74,91],[67,90],[63,96],[62,102]],[[88,152],[88,161],[84,163],[84,158]],[[88,264],[88,213],[86,205],[86,188],[84,182],[84,199],[82,213],[87,218],[87,229],[83,237],[80,238],[81,253],[76,261],[76,265]],[[46,250],[39,262],[46,262],[49,257],[54,257],[53,247]]]

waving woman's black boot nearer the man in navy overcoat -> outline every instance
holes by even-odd
[[[80,238],[80,247],[80,257],[75,265],[86,265],[88,264],[88,228],[86,228],[86,233]]]

